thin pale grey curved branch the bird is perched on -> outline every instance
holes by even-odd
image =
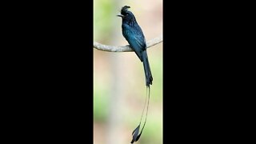
[[[146,42],[146,48],[157,45],[160,42],[162,42],[162,36],[159,36],[158,38],[154,38],[154,39],[151,39],[150,41]],[[94,48],[96,48],[97,50],[103,50],[103,51],[109,51],[109,52],[134,51],[130,48],[130,46],[108,46],[108,45],[103,45],[98,42],[94,42]]]

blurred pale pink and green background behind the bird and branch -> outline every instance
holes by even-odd
[[[130,6],[146,41],[162,35],[162,0],[94,0],[94,42],[128,45],[122,36],[122,18],[116,16],[122,6]],[[147,49],[147,54],[154,80],[146,126],[135,143],[161,144],[162,43]],[[145,98],[143,65],[134,52],[94,49],[94,144],[130,143]]]

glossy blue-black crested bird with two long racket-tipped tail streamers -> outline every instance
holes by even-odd
[[[146,109],[146,117],[147,117],[147,111],[148,111],[148,106],[150,101],[150,85],[152,85],[153,77],[150,70],[150,63],[146,54],[146,40],[145,40],[144,34],[140,26],[138,26],[138,23],[136,22],[136,18],[134,17],[134,14],[129,10],[127,10],[128,8],[130,8],[130,6],[123,6],[121,9],[121,15],[118,15],[118,17],[122,18],[122,35],[126,38],[126,41],[130,44],[131,49],[134,50],[135,54],[137,54],[141,62],[143,62],[144,73],[146,77],[146,87],[149,87],[149,98],[148,98],[147,109]],[[144,114],[144,109],[145,109],[145,105],[143,108],[142,116]],[[132,133],[133,139],[131,143],[137,142],[142,134],[142,131],[146,124],[146,119],[140,134],[138,134],[141,122],[142,122],[142,118],[141,118],[141,121],[139,122],[139,125]]]

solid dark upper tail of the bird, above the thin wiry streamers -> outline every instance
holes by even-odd
[[[142,52],[142,60],[143,60],[143,66],[144,66],[144,72],[146,77],[146,86],[152,85],[153,77],[150,70],[150,62],[147,58],[146,50]]]

